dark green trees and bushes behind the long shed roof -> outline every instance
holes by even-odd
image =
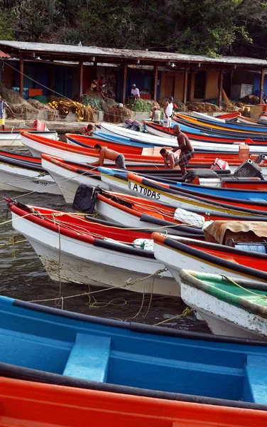
[[[0,38],[266,58],[267,1],[0,0]]]

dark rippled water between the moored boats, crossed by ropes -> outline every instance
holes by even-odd
[[[11,221],[9,221],[11,219],[11,214],[6,208],[6,201],[3,201],[3,196],[18,199],[18,201],[26,204],[45,206],[58,210],[67,209],[67,211],[70,211],[70,206],[66,207],[62,196],[52,196],[48,194],[21,196],[21,194],[11,191],[0,191],[0,245],[9,243],[10,239],[13,238],[15,234],[11,226]],[[24,239],[23,236],[17,236],[18,241]],[[27,241],[15,243],[14,246],[13,244],[9,246],[0,246],[0,260],[1,295],[32,301],[47,300],[58,297],[58,295],[65,297],[89,292],[89,290],[99,290],[99,287],[95,286],[91,286],[89,289],[87,285],[62,283],[60,294],[59,283],[50,280],[38,256]],[[142,300],[143,295],[141,293],[120,289],[109,289],[104,292],[99,292],[99,294],[94,294],[94,298],[90,298],[88,295],[82,295],[80,297],[64,300],[63,309],[87,315],[155,325],[158,322],[170,319],[170,317],[180,315],[186,307],[178,297],[153,295],[151,300],[151,295],[145,295],[143,302]],[[57,302],[55,301],[40,303],[50,307],[57,306]],[[183,330],[209,332],[205,323],[196,320],[193,314],[187,317],[178,317],[175,320],[170,320],[169,322],[165,322],[163,326],[175,327]]]

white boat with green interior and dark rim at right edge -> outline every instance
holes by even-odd
[[[214,334],[267,339],[267,285],[180,271],[181,295]],[[258,369],[263,364],[257,364]]]

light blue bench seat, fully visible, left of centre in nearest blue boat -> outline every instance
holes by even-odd
[[[90,381],[107,381],[111,338],[77,334],[63,375]]]

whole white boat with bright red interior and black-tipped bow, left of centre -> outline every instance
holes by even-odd
[[[31,243],[51,279],[179,296],[153,250],[142,249],[151,245],[151,231],[9,201],[13,228]]]

